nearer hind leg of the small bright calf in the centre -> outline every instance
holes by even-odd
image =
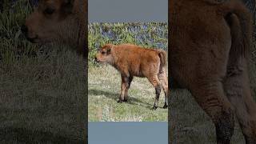
[[[154,89],[155,89],[155,99],[154,99],[153,109],[156,110],[158,108],[158,101],[159,101],[159,96],[161,93],[162,86],[158,79],[158,75],[154,75],[153,77],[148,78],[148,80],[154,86]]]

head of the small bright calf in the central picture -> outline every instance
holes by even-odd
[[[112,53],[113,46],[114,45],[111,45],[111,44],[102,46],[102,48],[98,50],[98,53],[95,56],[95,61],[100,63],[113,64],[114,62],[113,53]]]

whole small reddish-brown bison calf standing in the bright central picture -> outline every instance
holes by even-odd
[[[165,105],[168,107],[166,78],[166,52],[164,50],[146,49],[131,44],[107,44],[98,50],[97,62],[108,63],[116,68],[122,77],[121,94],[118,102],[127,102],[128,89],[134,76],[146,77],[154,86],[156,97],[154,109],[158,108],[158,98],[161,89],[165,92]]]

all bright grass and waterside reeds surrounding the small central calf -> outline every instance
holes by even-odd
[[[90,23],[88,117],[90,122],[158,122],[167,121],[168,111],[162,109],[162,91],[158,110],[154,105],[154,86],[146,78],[134,78],[128,92],[129,102],[118,103],[121,76],[111,66],[94,62],[99,46],[106,43],[134,43],[143,47],[167,49],[166,23]]]

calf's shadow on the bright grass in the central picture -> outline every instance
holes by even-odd
[[[94,94],[94,95],[100,95],[100,94],[104,94],[107,98],[111,98],[114,101],[118,101],[119,98],[119,94],[114,94],[114,93],[110,93],[107,91],[102,91],[102,90],[88,90],[88,94]],[[146,105],[146,108],[151,108],[151,106],[153,107],[153,103],[147,103],[147,102],[143,102],[141,100],[139,100],[138,98],[133,98],[133,97],[129,97],[128,96],[128,104],[130,105],[138,105],[138,103],[142,103],[144,105]]]

